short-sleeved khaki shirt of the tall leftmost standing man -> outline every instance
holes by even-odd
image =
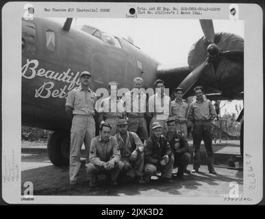
[[[65,105],[73,109],[73,114],[90,116],[94,115],[96,101],[97,96],[92,90],[84,91],[79,86],[68,92]]]

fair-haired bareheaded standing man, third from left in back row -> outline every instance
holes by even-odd
[[[143,80],[136,77],[133,82],[133,90],[126,92],[118,103],[118,110],[125,112],[128,117],[128,131],[138,133],[140,140],[144,142],[148,138],[147,122],[144,118],[146,112],[147,95],[140,90]],[[125,104],[125,107],[123,105]]]

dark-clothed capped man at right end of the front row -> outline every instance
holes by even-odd
[[[171,145],[174,154],[174,167],[178,167],[177,177],[185,180],[184,172],[190,163],[190,151],[188,150],[188,140],[184,133],[176,131],[176,120],[174,117],[168,118],[168,133],[166,139]]]

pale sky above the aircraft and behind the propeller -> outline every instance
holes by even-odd
[[[65,18],[55,20],[64,23]],[[244,21],[214,20],[213,24],[215,33],[225,31],[244,38]],[[73,26],[81,25],[97,27],[118,37],[129,36],[137,47],[161,64],[179,67],[188,66],[190,48],[203,36],[199,20],[195,19],[74,18]],[[221,115],[225,109],[236,113],[236,104],[243,105],[242,101],[226,103]]]

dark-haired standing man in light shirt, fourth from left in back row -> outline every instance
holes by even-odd
[[[150,96],[148,101],[149,116],[152,118],[150,122],[150,136],[152,135],[152,124],[159,122],[162,126],[162,134],[168,131],[166,121],[169,115],[169,105],[171,98],[164,93],[165,84],[161,79],[155,81],[155,94]]]

